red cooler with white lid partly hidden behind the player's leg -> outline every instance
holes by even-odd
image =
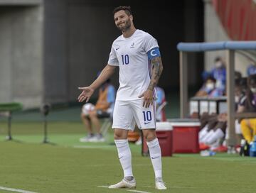
[[[156,136],[159,140],[162,156],[172,156],[172,127],[169,122],[156,122]],[[146,140],[143,138],[142,154],[149,155],[149,148]]]

